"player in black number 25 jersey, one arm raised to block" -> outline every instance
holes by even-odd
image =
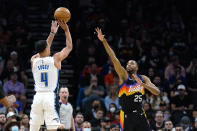
[[[154,95],[159,95],[159,89],[145,75],[138,75],[136,61],[129,60],[126,69],[122,67],[116,58],[114,51],[108,45],[101,29],[96,28],[98,39],[110,56],[114,68],[120,79],[119,103],[122,107],[120,112],[120,124],[122,131],[149,131],[146,115],[142,108],[145,89]]]

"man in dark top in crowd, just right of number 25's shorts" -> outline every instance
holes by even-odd
[[[152,122],[151,124],[151,128],[155,131],[162,129],[164,127],[164,116],[163,116],[163,112],[161,111],[157,111],[155,113],[155,121]]]

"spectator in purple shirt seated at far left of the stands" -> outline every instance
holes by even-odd
[[[19,112],[22,111],[23,107],[26,105],[25,89],[24,89],[24,84],[18,81],[18,76],[16,72],[13,72],[11,74],[10,80],[3,85],[3,89],[6,94],[14,94],[16,96],[17,98],[16,104],[19,105],[16,108],[18,108]],[[22,109],[19,108],[20,101],[23,104]]]

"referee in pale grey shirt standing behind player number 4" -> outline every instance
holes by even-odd
[[[67,87],[61,87],[59,90],[60,103],[60,122],[64,124],[66,130],[74,130],[73,108],[68,102],[69,91]]]

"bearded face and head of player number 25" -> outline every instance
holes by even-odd
[[[137,66],[136,61],[134,61],[134,60],[128,61],[127,66],[126,66],[126,70],[129,74],[136,73],[138,70],[138,66]]]

